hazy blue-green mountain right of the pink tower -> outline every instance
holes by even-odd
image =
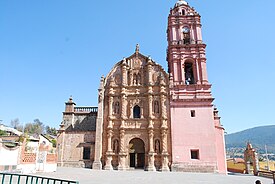
[[[267,145],[268,153],[275,154],[275,125],[261,126],[247,129],[241,132],[225,136],[227,152],[232,149],[246,148],[250,142],[258,153],[265,153]]]

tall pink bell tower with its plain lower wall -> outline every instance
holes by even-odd
[[[211,95],[196,10],[179,0],[168,17],[172,171],[226,173],[224,128]]]

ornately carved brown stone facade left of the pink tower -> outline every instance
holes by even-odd
[[[124,82],[112,86],[112,80],[116,75],[122,76]],[[107,75],[104,86],[102,153],[103,163],[107,165],[105,168],[110,169],[110,163],[114,163],[113,169],[119,170],[142,166],[145,170],[154,171],[156,168],[161,169],[165,164],[167,166],[164,167],[168,167],[168,162],[164,163],[163,160],[158,159],[162,154],[161,150],[166,150],[168,160],[171,158],[170,126],[169,123],[162,126],[163,121],[169,122],[167,119],[169,112],[167,107],[163,107],[168,105],[164,104],[169,97],[168,81],[168,75],[163,68],[139,51],[117,63]],[[113,116],[119,112],[121,116]],[[108,126],[110,117],[114,125],[112,128]],[[161,136],[163,129],[167,132],[167,137],[164,139]],[[112,130],[112,138],[110,130]],[[130,151],[130,141],[137,138],[144,143],[144,153]],[[163,142],[165,142],[165,148],[163,148]],[[117,158],[110,156],[110,146],[113,154],[118,155]],[[156,159],[159,160],[157,167]]]

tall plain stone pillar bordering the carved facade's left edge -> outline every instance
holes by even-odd
[[[96,119],[96,137],[95,137],[95,159],[93,169],[101,170],[102,163],[102,131],[103,131],[103,107],[104,107],[104,77],[101,77],[100,87],[98,89],[98,112]]]

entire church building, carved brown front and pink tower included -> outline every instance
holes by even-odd
[[[167,38],[168,73],[137,45],[101,78],[98,107],[66,102],[60,166],[226,173],[200,15],[184,0],[170,11]]]

